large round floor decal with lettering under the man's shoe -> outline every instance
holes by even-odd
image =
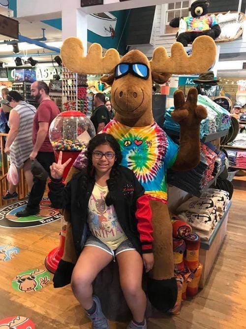
[[[40,213],[28,217],[17,217],[15,214],[26,208],[28,200],[17,201],[0,210],[0,226],[9,228],[26,228],[44,225],[60,219],[58,209],[51,208],[48,197],[43,197],[40,202]]]

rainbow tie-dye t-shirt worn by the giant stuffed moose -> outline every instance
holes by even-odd
[[[151,199],[167,201],[166,170],[174,164],[179,146],[156,122],[128,127],[113,119],[104,129],[121,146],[122,165],[131,169]]]

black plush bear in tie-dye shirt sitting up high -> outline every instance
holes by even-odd
[[[209,36],[214,40],[220,34],[220,27],[215,17],[207,15],[209,2],[207,0],[194,1],[189,11],[191,16],[182,17],[186,25],[186,31],[179,34],[177,41],[181,42],[184,47],[192,43],[196,37]],[[169,25],[173,28],[180,26],[180,18],[175,17]]]

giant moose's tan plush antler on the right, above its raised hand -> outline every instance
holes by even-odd
[[[182,43],[175,42],[171,46],[170,57],[167,55],[164,47],[157,47],[154,50],[150,64],[152,71],[157,73],[203,73],[212,67],[215,62],[215,56],[215,41],[211,37],[200,36],[195,38],[190,56],[186,54]]]

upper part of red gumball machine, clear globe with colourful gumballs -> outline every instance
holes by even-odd
[[[62,163],[72,158],[64,170],[63,179],[66,178],[79,153],[94,135],[95,128],[92,121],[82,112],[64,111],[52,121],[49,138],[55,152],[56,161],[60,151],[62,151]]]

